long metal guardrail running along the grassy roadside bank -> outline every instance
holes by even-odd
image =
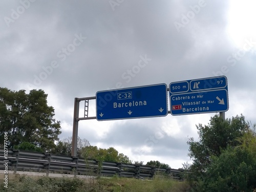
[[[182,169],[156,168],[146,165],[135,165],[118,162],[99,162],[95,159],[87,159],[56,155],[49,153],[31,152],[24,150],[8,149],[8,170],[24,172],[66,173],[94,176],[120,176],[131,178],[154,178],[156,174],[170,176],[173,179],[182,180]],[[7,160],[4,157],[4,148],[0,147],[0,168],[4,169]]]

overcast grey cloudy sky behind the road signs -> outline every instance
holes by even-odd
[[[242,113],[255,123],[255,6],[245,0],[2,0],[0,87],[44,90],[64,139],[72,136],[75,97],[225,75],[226,118]],[[95,115],[90,100],[89,116]],[[180,168],[191,162],[186,142],[198,139],[196,124],[214,115],[81,120],[78,136],[133,161]]]

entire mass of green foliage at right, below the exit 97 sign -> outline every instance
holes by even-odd
[[[190,170],[186,178],[191,191],[252,192],[256,189],[255,125],[252,128],[243,116],[231,121],[215,117],[211,118],[210,126],[199,127],[200,142],[191,139],[188,142],[190,157],[195,158],[192,165],[186,165]]]

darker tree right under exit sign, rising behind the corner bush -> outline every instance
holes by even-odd
[[[248,123],[243,115],[223,120],[218,115],[210,118],[208,125],[197,126],[199,141],[189,138],[188,156],[194,160],[193,166],[197,172],[204,172],[211,161],[211,156],[219,156],[221,150],[228,145],[238,145],[237,138],[243,136],[248,129]]]

